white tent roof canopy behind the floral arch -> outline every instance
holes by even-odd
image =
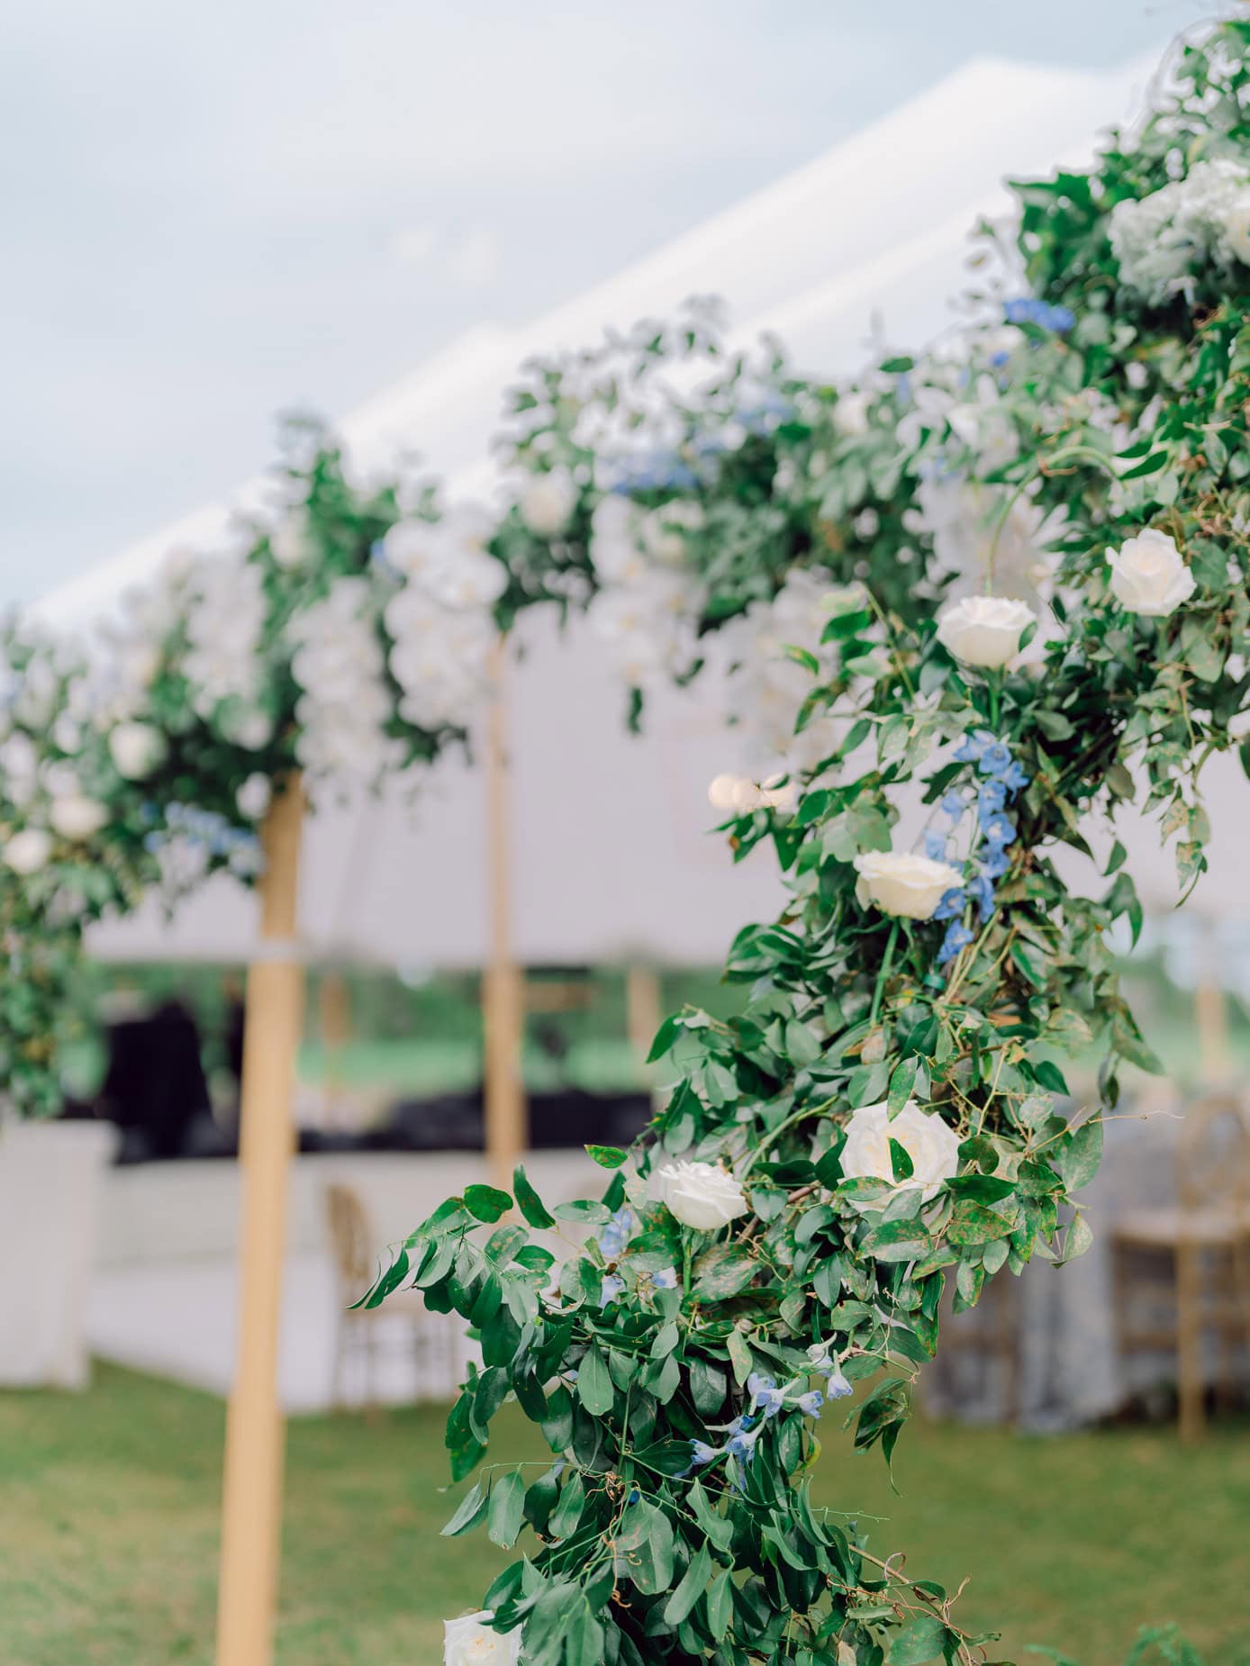
[[[1092,75],[968,63],[532,325],[462,337],[340,423],[350,455],[368,470],[417,451],[450,476],[453,495],[485,490],[487,445],[522,360],[582,347],[607,325],[672,313],[692,293],[727,297],[743,320],[737,338],[773,330],[802,367],[830,375],[863,362],[875,320],[895,343],[932,338],[962,287],[970,227],[1008,208],[1003,170],[1045,173],[1088,160],[1098,128],[1135,113],[1150,65],[1153,57]],[[255,503],[262,490],[252,483],[238,501]],[[200,510],[53,591],[37,613],[85,623],[115,606],[170,548],[212,546],[228,526],[230,506]],[[518,956],[720,960],[743,920],[775,911],[778,886],[768,855],[733,870],[723,845],[703,835],[713,820],[707,781],[735,763],[715,678],[653,700],[645,740],[637,741],[623,733],[615,673],[585,633],[573,628],[560,640],[550,620],[532,618],[525,638],[530,651],[508,685]],[[1235,791],[1228,771],[1220,780],[1222,793]],[[1135,843],[1152,890],[1172,895],[1153,856],[1153,828]],[[1218,865],[1218,840],[1215,855]],[[1235,853],[1223,860],[1243,893]],[[392,793],[317,818],[302,888],[305,936],[320,955],[480,965],[485,875],[482,773],[447,760],[415,810]],[[173,925],[143,910],[103,928],[93,946],[128,956],[243,958],[253,930],[253,901],[222,880]]]

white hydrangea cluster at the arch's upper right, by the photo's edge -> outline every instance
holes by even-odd
[[[1250,168],[1198,162],[1183,180],[1117,203],[1108,232],[1125,288],[1155,307],[1192,297],[1202,265],[1250,263]]]

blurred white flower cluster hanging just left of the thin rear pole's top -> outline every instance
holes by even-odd
[[[405,520],[382,541],[403,575],[385,608],[400,715],[418,728],[462,728],[488,688],[497,641],[493,603],[508,575],[487,550],[495,526],[465,506],[440,521]]]

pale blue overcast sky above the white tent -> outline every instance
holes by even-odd
[[[333,416],[465,327],[558,303],[970,57],[1103,68],[1198,15],[18,0],[0,601],[228,493],[268,461],[275,412]]]

